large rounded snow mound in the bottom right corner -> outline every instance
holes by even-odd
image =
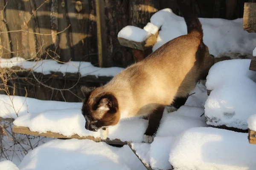
[[[256,147],[247,133],[195,127],[181,133],[170,149],[177,170],[254,170]]]

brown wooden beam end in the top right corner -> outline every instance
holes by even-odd
[[[244,3],[243,28],[247,32],[256,32],[256,3]]]

